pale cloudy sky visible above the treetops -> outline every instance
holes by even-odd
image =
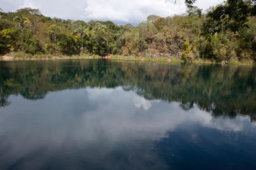
[[[72,20],[103,20],[116,24],[138,24],[151,14],[161,17],[183,14],[184,0],[1,0],[5,12],[30,7],[49,17]],[[223,0],[198,0],[196,6],[206,10]]]

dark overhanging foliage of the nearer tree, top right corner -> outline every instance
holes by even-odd
[[[185,0],[189,10],[195,8],[196,0]],[[227,0],[223,5],[218,5],[207,14],[206,29],[211,29],[211,34],[230,29],[233,32],[242,27],[256,15],[256,0]]]

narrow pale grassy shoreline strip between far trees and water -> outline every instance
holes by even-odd
[[[15,56],[15,57],[14,57]],[[169,58],[169,57],[140,57],[140,56],[120,56],[120,55],[111,55],[111,57],[100,57],[100,56],[53,56],[49,54],[37,54],[35,56],[30,56],[24,54],[19,54],[19,56],[13,55],[3,55],[0,56],[0,61],[30,61],[30,60],[83,60],[83,59],[105,59],[105,60],[116,60],[116,61],[140,61],[140,62],[155,62],[161,64],[221,64],[226,65],[224,61],[218,62],[215,60],[203,60],[195,59],[192,61],[184,61],[181,58]],[[255,65],[253,61],[239,61],[239,60],[229,60],[228,65]]]

